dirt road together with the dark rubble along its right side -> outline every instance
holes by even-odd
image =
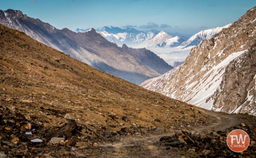
[[[115,142],[104,142],[100,145],[100,149],[95,150],[104,153],[106,157],[255,157],[255,124],[251,124],[255,121],[255,117],[213,112],[207,114],[211,116],[210,125],[197,126],[196,129],[173,130],[170,133],[157,135],[131,135]],[[234,129],[246,131],[253,139],[242,153],[233,152],[227,147],[227,135]]]

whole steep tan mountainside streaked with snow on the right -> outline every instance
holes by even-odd
[[[196,106],[255,112],[256,8],[194,47],[184,64],[141,86]]]

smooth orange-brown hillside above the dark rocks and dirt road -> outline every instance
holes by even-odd
[[[79,124],[118,131],[121,126],[180,128],[207,120],[195,106],[96,70],[3,25],[0,87],[0,104],[37,115],[41,122],[57,122],[70,113]],[[123,121],[122,115],[130,121]]]

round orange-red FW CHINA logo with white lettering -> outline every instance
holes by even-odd
[[[245,151],[249,146],[249,143],[249,135],[241,129],[231,131],[227,137],[227,145],[229,149],[235,152]]]

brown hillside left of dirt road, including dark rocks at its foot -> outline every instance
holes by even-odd
[[[209,120],[200,108],[113,77],[4,25],[0,87],[1,156],[78,157],[120,135],[159,134]],[[56,138],[65,142],[55,144]]]

